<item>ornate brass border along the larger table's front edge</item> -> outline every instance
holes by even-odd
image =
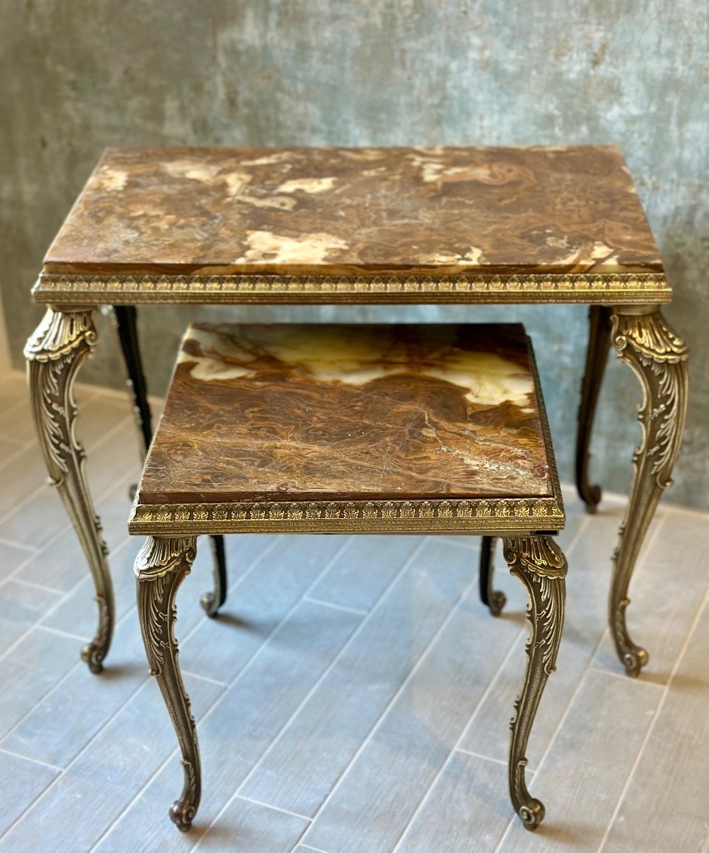
[[[52,305],[227,303],[669,302],[662,273],[457,276],[261,276],[43,273],[32,289]]]

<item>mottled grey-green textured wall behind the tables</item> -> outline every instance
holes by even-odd
[[[709,507],[709,7],[695,0],[4,0],[0,286],[14,363],[43,252],[107,145],[614,142],[691,347],[689,426],[667,498]],[[533,335],[562,479],[573,475],[585,308],[141,311],[150,390],[195,316],[518,319]],[[84,380],[119,385],[107,322]],[[639,386],[608,368],[592,471],[625,491]]]

